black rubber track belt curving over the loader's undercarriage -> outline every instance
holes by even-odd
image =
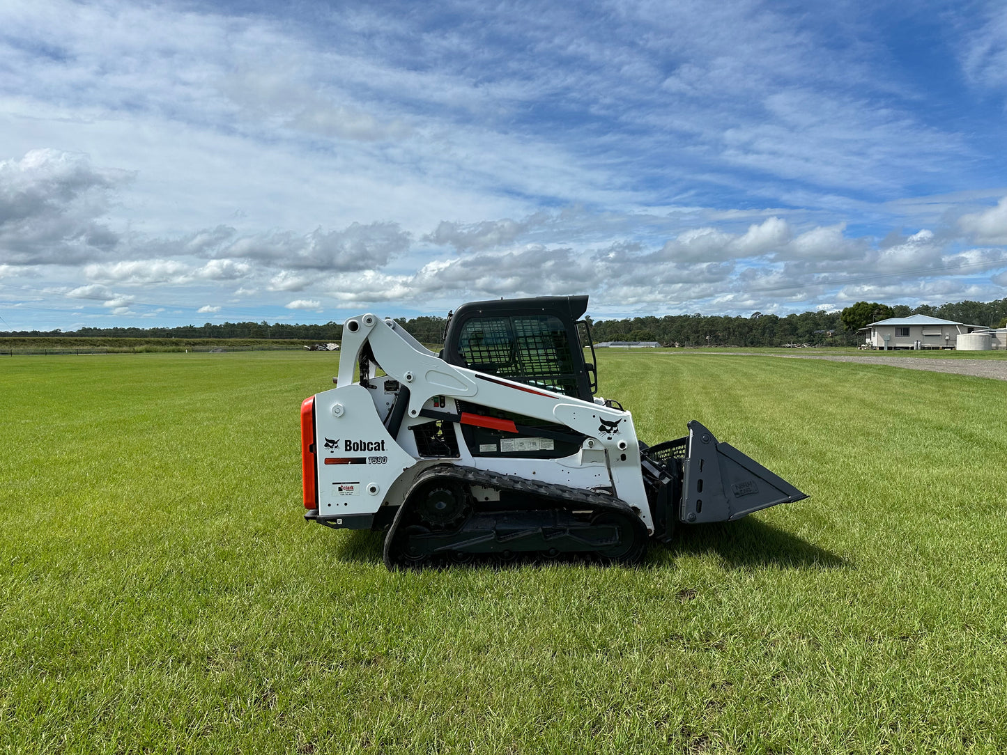
[[[633,522],[633,526],[636,530],[636,537],[639,538],[644,544],[646,543],[648,532],[646,527],[643,525],[643,521],[628,503],[621,498],[615,497],[614,495],[607,495],[593,490],[585,490],[583,488],[570,487],[568,485],[560,485],[557,483],[530,480],[526,477],[519,477],[514,474],[500,474],[499,472],[490,472],[484,469],[476,469],[475,467],[461,466],[458,464],[443,464],[425,469],[417,476],[416,480],[409,489],[409,493],[407,493],[405,497],[405,502],[396,512],[392,526],[385,536],[384,559],[385,565],[389,569],[394,569],[399,564],[399,561],[394,558],[396,554],[393,550],[394,544],[396,543],[396,533],[399,528],[400,522],[404,518],[405,512],[410,508],[409,501],[413,493],[420,486],[432,480],[443,479],[466,482],[469,485],[488,487],[494,490],[508,490],[511,492],[525,493],[527,495],[535,495],[540,498],[553,500],[558,505],[582,505],[591,508],[608,509],[620,514],[625,514]]]

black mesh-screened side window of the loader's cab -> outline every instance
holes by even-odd
[[[458,351],[472,369],[577,396],[566,328],[552,315],[473,318],[462,326]]]

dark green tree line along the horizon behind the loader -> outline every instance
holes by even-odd
[[[923,314],[970,325],[1007,326],[1007,298],[992,302],[963,301],[910,308],[878,302],[857,302],[835,312],[802,312],[783,317],[754,312],[749,317],[684,314],[646,316],[591,322],[595,343],[605,341],[658,341],[663,346],[780,346],[786,343],[850,346],[860,343],[857,330],[888,317]],[[441,343],[446,318],[421,316],[399,320],[414,338],[423,343]],[[224,322],[180,327],[85,327],[71,331],[6,331],[0,337],[91,337],[91,338],[259,338],[276,340],[342,339],[342,325]]]

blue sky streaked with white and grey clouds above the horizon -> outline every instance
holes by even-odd
[[[7,0],[0,329],[999,299],[1005,123],[1002,2]]]

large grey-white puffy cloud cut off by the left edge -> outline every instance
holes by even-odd
[[[118,234],[101,221],[113,191],[132,179],[87,155],[32,150],[0,161],[0,249],[14,265],[64,265],[106,256]]]

